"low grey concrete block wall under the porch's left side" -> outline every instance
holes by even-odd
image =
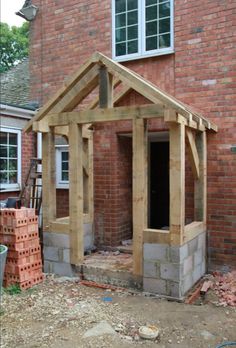
[[[70,236],[68,233],[43,233],[44,272],[73,276],[70,264]],[[93,226],[84,224],[84,250],[93,247]]]

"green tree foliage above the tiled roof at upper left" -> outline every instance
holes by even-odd
[[[7,23],[0,23],[0,52],[0,72],[9,70],[28,56],[28,22],[23,23],[21,27],[9,27]]]

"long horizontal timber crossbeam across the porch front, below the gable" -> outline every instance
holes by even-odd
[[[70,122],[86,124],[96,122],[132,120],[133,118],[158,118],[163,117],[163,115],[164,109],[162,106],[150,104],[141,106],[120,106],[109,109],[95,109],[48,114],[47,121],[49,126],[65,126]],[[43,120],[43,122],[45,123],[45,119]]]

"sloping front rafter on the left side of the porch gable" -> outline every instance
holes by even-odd
[[[60,101],[73,86],[98,62],[98,54],[94,53],[81,67],[67,79],[63,86],[54,94],[52,98],[39,110],[39,112],[27,123],[25,132],[30,131],[35,121],[41,120],[52,108]]]

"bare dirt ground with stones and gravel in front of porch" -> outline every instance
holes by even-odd
[[[20,294],[3,293],[0,347],[215,348],[236,340],[236,309],[211,302],[187,305],[49,277]],[[84,337],[97,324],[97,336]],[[102,334],[104,325],[114,331]],[[142,325],[157,326],[159,339],[141,339]]]

